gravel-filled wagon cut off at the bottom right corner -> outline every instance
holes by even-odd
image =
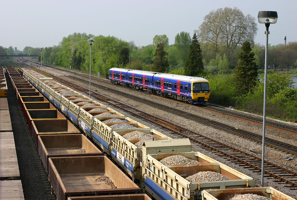
[[[236,189],[221,189],[221,190],[203,190],[202,199],[204,200],[293,200],[294,198],[271,188],[236,188]]]

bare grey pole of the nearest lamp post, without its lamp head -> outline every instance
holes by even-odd
[[[264,185],[264,161],[265,161],[265,128],[266,128],[266,83],[267,83],[267,55],[268,55],[268,27],[270,23],[265,23],[266,26],[266,44],[265,44],[265,74],[264,74],[264,105],[263,105],[263,135],[262,135],[262,169],[261,169],[261,186]]]

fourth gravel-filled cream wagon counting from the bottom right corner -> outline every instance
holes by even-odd
[[[117,122],[116,119],[121,119],[122,121]],[[102,150],[109,152],[109,144],[111,144],[112,141],[113,131],[136,131],[140,129],[149,129],[149,127],[128,117],[118,116],[117,118],[106,118],[106,116],[97,116],[94,118],[92,137],[94,142],[97,143]]]

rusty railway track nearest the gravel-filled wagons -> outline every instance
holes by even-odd
[[[50,76],[50,74],[47,75]],[[55,79],[63,82],[63,84],[69,85],[69,87],[75,88],[75,90],[85,93],[88,93],[89,91],[86,88],[62,80],[59,77],[55,77]],[[127,104],[102,96],[97,92],[91,91],[91,96],[99,99],[100,101],[106,102],[110,106],[117,107],[123,110],[124,112],[131,113],[132,115],[141,118],[146,122],[149,122],[154,125],[157,124],[158,126],[161,126],[162,129],[169,131],[171,134],[175,134],[177,137],[189,138],[193,143],[197,144],[198,146],[204,148],[205,150],[217,153],[217,155],[219,155],[220,157],[225,158],[234,164],[238,164],[239,166],[248,168],[253,172],[261,172],[262,160],[261,158],[255,155],[236,149],[230,145],[211,139],[207,136],[189,130],[185,127],[178,126],[165,119],[150,115],[146,112],[133,108]],[[265,177],[272,179],[274,182],[285,184],[285,187],[288,187],[291,190],[297,190],[297,172],[294,172],[293,170],[287,169],[285,167],[279,166],[266,160],[264,161],[264,164]]]

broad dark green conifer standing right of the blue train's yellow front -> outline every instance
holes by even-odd
[[[246,94],[256,85],[257,65],[255,63],[255,53],[252,52],[251,44],[245,41],[238,53],[238,64],[236,66],[235,81],[239,94]]]

